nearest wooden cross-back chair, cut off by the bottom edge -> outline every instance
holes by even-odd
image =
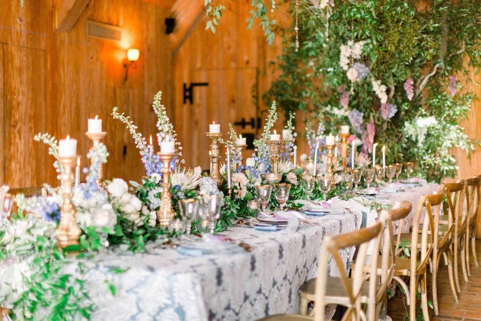
[[[326,236],[323,240],[321,251],[319,254],[319,268],[318,277],[315,282],[315,301],[314,316],[294,315],[294,314],[278,314],[260,319],[259,321],[301,321],[314,320],[325,321],[325,305],[329,304],[326,301],[328,283],[328,266],[330,257],[332,256],[336,266],[339,269],[339,282],[348,300],[345,306],[347,310],[343,315],[342,321],[358,321],[367,320],[365,313],[361,309],[361,291],[366,279],[364,272],[364,261],[366,259],[368,246],[371,240],[376,240],[375,245],[379,248],[380,238],[382,237],[381,230],[383,223],[379,222],[371,227],[360,229],[359,231],[341,234],[337,236]],[[356,268],[352,270],[351,276],[348,277],[346,270],[346,263],[343,262],[339,256],[339,251],[346,248],[359,247],[356,257]],[[375,267],[374,267],[375,269]],[[373,282],[375,282],[373,278]]]

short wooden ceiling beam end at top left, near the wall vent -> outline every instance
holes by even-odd
[[[90,0],[54,0],[55,30],[71,31],[89,2]]]

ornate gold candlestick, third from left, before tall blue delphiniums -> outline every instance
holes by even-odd
[[[169,226],[169,223],[175,216],[172,208],[172,195],[170,194],[170,161],[174,158],[175,153],[157,153],[162,161],[162,195],[160,196],[160,208],[157,211],[157,224],[160,226]]]

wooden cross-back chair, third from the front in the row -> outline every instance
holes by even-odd
[[[427,305],[427,265],[431,258],[431,253],[434,248],[432,233],[435,231],[434,216],[440,215],[444,193],[431,194],[421,196],[416,213],[414,214],[412,222],[412,232],[398,234],[396,254],[404,253],[403,247],[412,247],[416,244],[416,249],[410,250],[410,257],[396,258],[396,265],[394,267],[393,278],[399,283],[406,293],[406,302],[409,304],[409,319],[414,321],[416,319],[416,293],[418,289],[421,292],[421,307],[422,314],[425,321],[429,321],[428,305]],[[433,216],[434,209],[434,216]],[[424,215],[423,215],[423,212]],[[422,221],[422,224],[420,224]],[[399,229],[401,230],[401,229]],[[401,244],[402,240],[410,240],[407,245]],[[419,251],[419,253],[418,253]],[[409,286],[401,278],[401,276],[409,277]]]

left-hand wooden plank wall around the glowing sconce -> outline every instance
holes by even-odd
[[[105,177],[139,180],[144,172],[135,144],[110,113],[118,106],[145,135],[155,133],[152,98],[162,90],[170,100],[164,18],[173,2],[163,3],[91,0],[74,28],[60,33],[54,31],[50,0],[26,0],[23,8],[20,1],[0,2],[0,184],[58,184],[53,157],[32,139],[39,131],[77,138],[86,165],[87,118],[96,114],[108,131]],[[88,37],[87,20],[121,27],[122,41]],[[124,83],[127,48],[140,49],[140,59]]]

